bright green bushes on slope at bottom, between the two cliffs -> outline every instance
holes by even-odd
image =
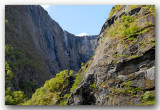
[[[60,93],[67,86],[68,77],[72,74],[72,70],[64,70],[57,73],[55,78],[46,81],[44,86],[37,89],[32,98],[22,105],[55,105],[57,100],[60,100],[60,105],[66,104],[67,100],[63,101],[61,99],[69,98],[69,94],[62,97]]]

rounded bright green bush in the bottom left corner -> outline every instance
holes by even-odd
[[[6,105],[19,105],[26,100],[27,98],[22,91],[11,91],[10,87],[8,87],[5,91]]]

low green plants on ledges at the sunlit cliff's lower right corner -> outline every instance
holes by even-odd
[[[132,81],[124,82],[121,84],[121,86],[122,88],[115,88],[115,87],[110,88],[108,85],[103,84],[102,87],[107,87],[112,91],[112,93],[110,93],[103,99],[106,99],[113,95],[130,95],[131,98],[137,98],[137,97],[141,98],[142,103],[139,105],[155,105],[155,96],[153,91],[146,91],[144,94],[140,95],[138,94],[138,92],[142,93],[143,88],[132,87]]]

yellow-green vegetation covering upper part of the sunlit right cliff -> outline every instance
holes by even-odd
[[[118,8],[119,7],[119,8]],[[147,16],[152,16],[154,13],[154,6],[147,6],[147,5],[130,5],[128,11],[134,9],[134,8],[144,8],[144,10],[146,11],[147,15],[146,16],[129,16],[129,15],[122,15],[120,19],[117,19],[113,25],[111,25],[110,27],[108,27],[105,30],[105,36],[102,38],[101,42],[104,41],[104,39],[106,37],[109,38],[114,38],[114,39],[120,39],[120,43],[123,45],[123,49],[126,50],[128,49],[128,47],[130,47],[131,45],[135,44],[138,42],[138,38],[140,34],[144,34],[146,32],[153,32],[152,29],[154,29],[154,24],[151,24],[151,22],[146,22],[145,25],[140,26],[139,20],[143,19],[144,17]],[[117,8],[113,8],[112,9],[112,13],[115,13],[116,11],[114,10],[119,10],[121,9],[121,6],[117,6]],[[149,11],[151,10],[152,11]],[[144,43],[146,42],[146,43]],[[155,45],[155,42],[149,42],[149,41],[144,41],[142,44],[140,42],[140,48],[146,46],[146,44],[151,44],[151,45]],[[115,45],[115,48],[117,46]],[[136,58],[138,56],[138,50],[135,50],[131,56],[128,57],[128,55],[121,55],[118,53],[114,54],[113,60],[117,61],[117,57],[126,57],[126,58]]]

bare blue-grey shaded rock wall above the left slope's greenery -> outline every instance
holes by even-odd
[[[20,33],[27,34],[26,37],[52,75],[65,69],[78,71],[81,63],[85,63],[94,54],[97,35],[78,37],[64,31],[41,6],[7,7],[13,8],[19,14],[15,28]]]

